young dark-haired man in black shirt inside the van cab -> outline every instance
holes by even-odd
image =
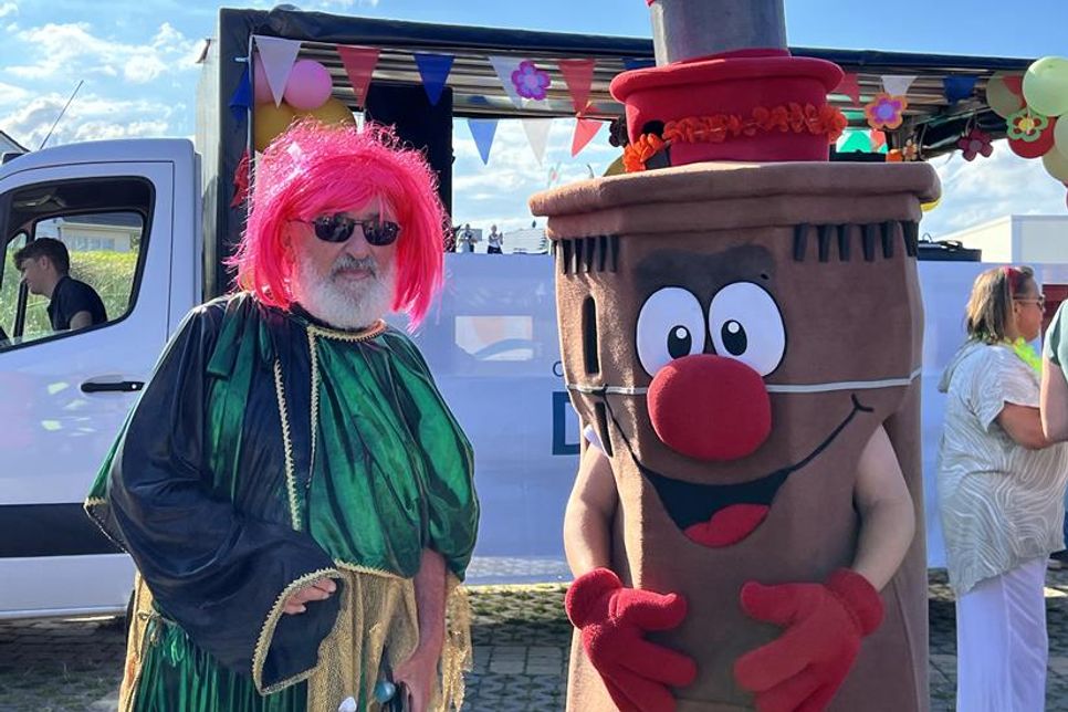
[[[70,275],[71,256],[59,240],[38,238],[14,253],[14,266],[31,294],[49,297],[53,331],[85,328],[107,321],[100,294]]]

